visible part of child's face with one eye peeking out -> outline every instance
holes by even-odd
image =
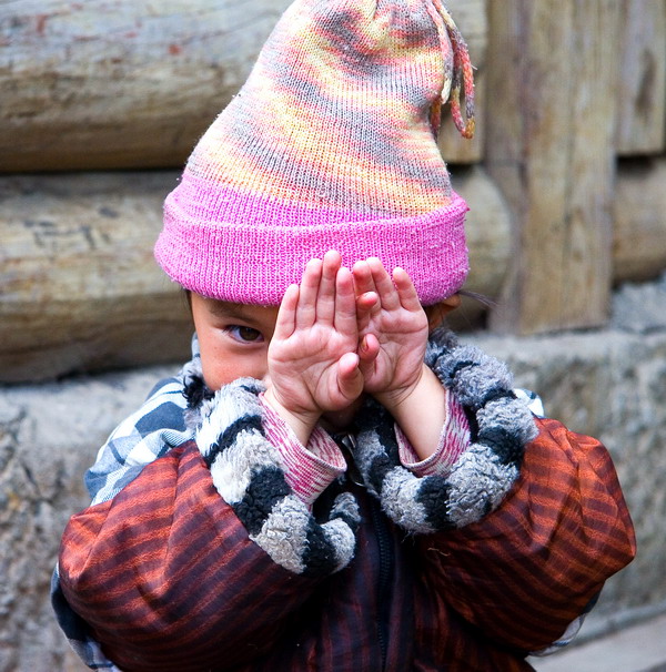
[[[203,378],[212,390],[250,376],[265,380],[278,306],[232,304],[191,294]]]

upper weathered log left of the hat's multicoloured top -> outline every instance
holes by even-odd
[[[0,171],[179,166],[289,0],[0,2]]]

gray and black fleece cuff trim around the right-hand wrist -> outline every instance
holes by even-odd
[[[418,533],[460,528],[495,509],[518,477],[525,445],[537,435],[503,363],[474,346],[458,346],[453,334],[440,329],[428,343],[426,364],[470,419],[472,444],[450,474],[418,478],[402,467],[391,417],[373,401],[359,418],[354,454],[385,513]]]

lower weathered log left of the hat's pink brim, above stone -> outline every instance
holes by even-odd
[[[184,297],[152,258],[175,174],[0,180],[0,381],[184,360]]]

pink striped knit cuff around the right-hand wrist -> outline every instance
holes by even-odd
[[[463,406],[446,390],[446,419],[440,435],[437,449],[420,460],[403,430],[396,425],[395,436],[403,467],[415,476],[446,476],[460,456],[470,446],[470,425]]]

